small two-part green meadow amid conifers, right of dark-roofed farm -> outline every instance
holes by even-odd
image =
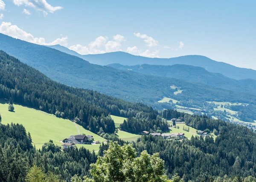
[[[113,116],[113,115],[111,115],[111,118],[114,120],[116,127],[119,127],[119,125],[122,124],[124,122],[124,120],[126,119],[123,117]],[[122,140],[128,141],[128,142],[136,141],[137,138],[140,137],[140,135],[128,133],[128,132],[122,131],[120,129],[118,129],[118,133],[116,133],[116,135],[118,136],[119,139],[122,139]]]

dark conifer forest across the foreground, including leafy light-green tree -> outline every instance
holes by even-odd
[[[132,145],[124,145],[126,143],[119,140],[123,147],[117,143],[102,144],[96,155],[84,148],[61,151],[52,141],[45,143],[42,150],[35,150],[30,134],[22,125],[0,123],[0,181],[23,182],[26,178],[29,182],[33,182],[32,179],[70,182],[81,181],[86,176],[84,182],[107,182],[104,179],[144,182],[142,173],[145,177],[154,173],[150,178],[163,182],[256,181],[256,133],[246,127],[203,116],[171,110],[163,115],[182,117],[187,125],[198,130],[215,130],[218,136],[215,140],[192,137],[183,141],[142,136]],[[155,153],[159,153],[163,161]],[[115,173],[111,169],[115,169]],[[126,173],[126,170],[130,172]],[[171,181],[166,179],[165,172]]]

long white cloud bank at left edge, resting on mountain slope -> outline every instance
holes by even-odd
[[[12,25],[10,22],[2,22],[0,25],[0,33],[39,45],[54,45],[54,43],[67,45],[67,37],[58,38],[51,43],[46,43],[44,38],[36,38],[32,34],[25,32],[23,29],[20,29],[17,25]]]

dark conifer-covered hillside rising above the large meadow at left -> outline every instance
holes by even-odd
[[[3,51],[0,51],[0,98],[12,98],[14,102],[27,107],[53,113],[57,117],[75,119],[93,132],[114,132],[110,113],[124,117],[135,116],[139,111],[157,113],[144,104],[58,84]]]

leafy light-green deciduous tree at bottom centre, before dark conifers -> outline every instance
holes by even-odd
[[[158,153],[150,156],[146,151],[137,153],[131,144],[120,146],[110,142],[108,150],[91,165],[92,179],[84,182],[168,182],[164,174],[164,161]]]

